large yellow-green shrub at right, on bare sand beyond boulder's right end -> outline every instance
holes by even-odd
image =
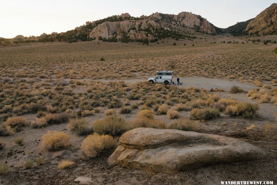
[[[228,105],[226,107],[225,114],[231,116],[242,116],[243,118],[254,118],[258,116],[258,110],[258,104],[241,102],[236,105]]]

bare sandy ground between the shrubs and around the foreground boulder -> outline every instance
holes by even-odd
[[[91,79],[86,79],[87,81]],[[123,80],[126,83],[135,83],[146,81],[147,78],[127,79]],[[98,81],[111,81],[98,79]],[[119,81],[119,80],[118,80]],[[180,78],[183,85],[188,87],[195,86],[210,90],[211,88],[219,88],[228,91],[231,86],[237,85],[243,90],[256,88],[254,84],[246,84],[236,80],[224,80],[204,77],[186,77]],[[84,91],[79,89],[78,91]],[[248,101],[256,103],[256,101],[248,99],[246,93],[230,94],[229,92],[212,92],[219,94],[220,98],[230,99],[234,97],[238,101]],[[132,103],[132,101],[131,101]],[[162,173],[147,173],[141,170],[129,169],[120,166],[109,166],[106,161],[112,151],[96,157],[95,159],[86,159],[80,151],[81,143],[84,139],[82,136],[77,136],[66,130],[66,123],[59,125],[48,126],[43,129],[32,129],[24,127],[19,133],[13,136],[2,137],[6,142],[6,147],[0,152],[2,161],[7,162],[11,166],[11,171],[6,175],[0,175],[0,184],[6,185],[27,185],[27,184],[79,184],[74,182],[79,176],[91,178],[89,184],[220,184],[220,180],[277,180],[277,135],[276,135],[276,120],[274,112],[277,107],[273,104],[259,104],[260,118],[258,119],[241,119],[231,118],[222,114],[220,118],[199,123],[199,132],[225,135],[241,139],[255,146],[261,147],[267,152],[265,159],[256,161],[245,161],[230,164],[220,164],[213,166],[201,167],[195,170],[180,172],[177,174],[162,174]],[[101,113],[94,116],[86,117],[89,122],[94,122],[99,118],[103,118],[103,108]],[[119,111],[119,109],[116,109]],[[139,109],[134,110],[130,114],[123,114],[127,121],[132,121]],[[182,111],[181,117],[189,118],[188,111]],[[36,115],[23,115],[27,120],[32,120]],[[166,115],[157,116],[155,119],[163,119],[167,123],[172,123]],[[270,123],[272,128],[265,132],[266,123]],[[247,130],[246,127],[255,124],[256,127]],[[71,136],[71,146],[68,150],[60,152],[45,152],[40,149],[41,137],[47,130],[64,131]],[[18,146],[13,143],[13,139],[24,137],[24,145]],[[12,138],[12,139],[11,139]],[[42,166],[35,165],[31,169],[23,169],[22,165],[27,159],[35,160],[39,156],[45,158],[45,164]],[[61,159],[73,159],[75,162],[73,169],[57,169],[57,164]]]

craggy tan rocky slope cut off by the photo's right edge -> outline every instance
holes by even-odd
[[[277,4],[273,3],[263,10],[254,20],[250,21],[246,29],[249,34],[270,34],[277,31]]]

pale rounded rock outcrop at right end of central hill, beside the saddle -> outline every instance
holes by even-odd
[[[174,16],[174,20],[180,25],[186,25],[208,34],[216,33],[215,27],[207,19],[191,12],[181,12]]]

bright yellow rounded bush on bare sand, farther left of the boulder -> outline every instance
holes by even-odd
[[[42,136],[41,148],[46,151],[56,151],[62,148],[67,148],[70,145],[70,136],[64,132],[47,131]]]

